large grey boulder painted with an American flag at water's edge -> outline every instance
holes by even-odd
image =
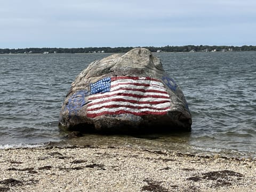
[[[59,126],[102,133],[190,131],[180,87],[144,48],[90,63],[71,84]]]

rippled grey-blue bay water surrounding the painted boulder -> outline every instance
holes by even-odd
[[[154,54],[185,94],[191,133],[91,134],[68,142],[256,158],[256,52]],[[57,124],[70,84],[107,55],[0,55],[0,148],[65,142]]]

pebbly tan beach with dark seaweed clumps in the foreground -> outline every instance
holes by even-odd
[[[0,150],[0,191],[256,191],[252,159],[110,146]]]

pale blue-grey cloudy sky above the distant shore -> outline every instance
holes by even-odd
[[[0,48],[256,45],[255,0],[0,1]]]

